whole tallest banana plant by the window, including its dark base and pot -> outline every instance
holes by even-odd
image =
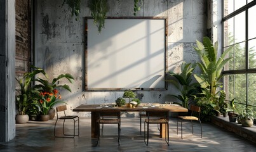
[[[199,106],[206,104],[207,108],[201,107],[202,111],[200,117],[207,118],[209,121],[210,116],[212,116],[210,108],[214,110],[211,104],[216,104],[214,101],[218,94],[217,89],[222,87],[222,83],[220,82],[220,79],[223,76],[222,69],[224,65],[231,60],[231,58],[226,58],[227,53],[229,53],[231,49],[227,49],[218,56],[218,42],[213,44],[209,37],[203,37],[203,42],[196,41],[196,45],[197,46],[194,47],[194,49],[201,59],[201,62],[198,62],[201,73],[194,74],[194,78],[201,85],[203,91],[199,96],[199,98],[203,99],[199,99],[199,103],[197,104]],[[203,101],[205,99],[206,101]]]

